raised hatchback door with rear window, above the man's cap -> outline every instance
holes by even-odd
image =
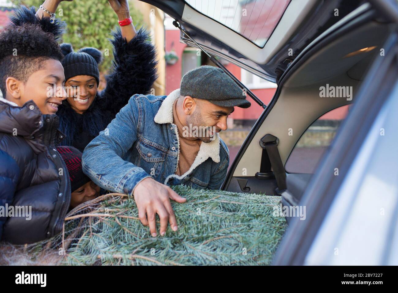
[[[361,1],[144,0],[211,55],[276,83],[297,55]],[[197,47],[181,33],[181,42]]]

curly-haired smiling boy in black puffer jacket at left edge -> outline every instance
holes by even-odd
[[[58,20],[35,18],[0,33],[0,238],[14,244],[58,234],[70,205],[56,149],[64,134],[55,113],[66,99],[61,32]]]

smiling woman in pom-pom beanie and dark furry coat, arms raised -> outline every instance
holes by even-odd
[[[66,134],[63,146],[83,151],[133,94],[146,94],[157,78],[155,49],[143,29],[131,40],[121,30],[112,35],[114,68],[105,77],[107,87],[101,92],[98,92],[101,52],[95,48],[74,52],[70,44],[61,44],[65,85],[70,88],[69,97],[58,113],[60,130]]]

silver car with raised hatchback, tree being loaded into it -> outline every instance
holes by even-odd
[[[144,2],[178,22],[181,42],[277,83],[222,185],[306,207],[304,218],[287,214],[274,264],[397,265],[397,2]],[[350,104],[319,161],[308,158],[316,168],[289,172],[306,130]]]

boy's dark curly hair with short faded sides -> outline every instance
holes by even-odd
[[[0,43],[0,89],[4,97],[8,77],[25,83],[42,69],[41,61],[64,58],[55,35],[43,31],[39,24],[10,24],[0,33]]]

